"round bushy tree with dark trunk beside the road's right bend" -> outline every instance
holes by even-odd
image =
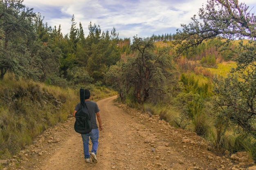
[[[156,50],[153,38],[134,37],[131,45],[134,56],[128,57],[122,67],[123,80],[129,91],[133,89],[138,103],[157,99],[168,93],[175,74],[169,48]],[[173,82],[172,82],[173,81]]]

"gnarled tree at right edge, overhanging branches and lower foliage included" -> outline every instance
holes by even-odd
[[[238,0],[207,2],[199,9],[199,18],[194,15],[191,23],[181,25],[182,30],[175,37],[177,52],[195,49],[206,40],[221,40],[218,49],[230,50],[237,67],[228,77],[215,79],[217,129],[234,125],[256,138],[256,16],[250,13],[253,7]],[[235,49],[229,49],[232,40],[239,40]]]

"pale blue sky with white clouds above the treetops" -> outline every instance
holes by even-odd
[[[256,11],[255,0],[238,1],[249,6],[251,12]],[[70,33],[74,15],[76,27],[81,22],[85,36],[92,22],[104,32],[115,27],[119,38],[132,40],[136,35],[146,38],[176,33],[181,24],[191,22],[207,0],[24,0],[23,4],[40,13],[48,26],[61,25],[63,35]]]

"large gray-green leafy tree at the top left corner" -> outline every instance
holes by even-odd
[[[0,1],[0,79],[8,72],[19,76],[32,76],[28,46],[34,42],[35,13],[22,4],[22,0]]]

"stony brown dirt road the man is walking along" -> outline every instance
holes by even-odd
[[[205,141],[193,132],[176,129],[158,116],[149,116],[109,97],[98,103],[103,122],[98,163],[85,163],[81,136],[74,118],[57,124],[27,146],[18,157],[25,170],[231,170],[228,157],[207,151]],[[90,148],[91,148],[90,144]],[[9,167],[9,169],[11,169]]]

